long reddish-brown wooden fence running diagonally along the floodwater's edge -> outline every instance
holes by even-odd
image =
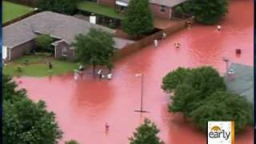
[[[141,50],[142,48],[149,46],[154,42],[154,39],[161,39],[163,33],[166,33],[166,35],[168,36],[170,34],[174,34],[178,30],[182,30],[184,27],[186,27],[186,22],[188,20],[190,20],[190,22],[194,22],[194,18],[187,18],[185,20],[177,22],[177,24],[174,26],[170,26],[165,30],[158,31],[157,33],[151,34],[146,38],[142,38],[134,42],[133,44],[125,46],[121,50],[117,50],[114,54],[114,60],[118,60],[119,58],[126,57],[129,54],[133,54],[137,50]]]

